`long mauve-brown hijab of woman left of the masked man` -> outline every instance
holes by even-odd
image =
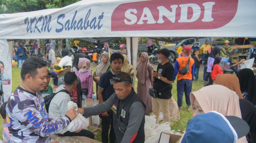
[[[141,84],[145,83],[145,79],[149,77],[149,72],[147,71],[148,69],[148,64],[149,64],[149,55],[146,52],[142,52],[140,55],[142,55],[145,59],[145,61],[142,63],[140,62],[137,66],[137,75],[136,77],[138,78],[138,82]]]

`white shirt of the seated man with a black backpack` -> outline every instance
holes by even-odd
[[[65,85],[60,85],[56,92],[65,89]],[[55,92],[55,93],[56,93]],[[60,92],[56,94],[53,99],[51,100],[50,106],[49,106],[49,116],[53,119],[58,119],[66,114],[68,111],[67,103],[71,101],[69,94],[65,92]],[[67,132],[66,128],[62,131],[58,132],[59,134],[64,134]]]

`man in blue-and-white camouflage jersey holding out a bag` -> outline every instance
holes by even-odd
[[[22,65],[22,82],[8,98],[6,120],[12,143],[50,143],[76,117],[75,108],[57,120],[49,118],[40,90],[47,84],[47,63],[28,58]]]

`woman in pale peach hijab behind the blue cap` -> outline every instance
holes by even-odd
[[[205,86],[190,94],[193,108],[192,116],[209,111],[217,111],[224,116],[237,116],[241,118],[239,98],[236,92],[222,85]],[[209,130],[211,134],[211,130]],[[180,139],[181,141],[182,139]],[[245,136],[238,139],[237,143],[246,143]]]

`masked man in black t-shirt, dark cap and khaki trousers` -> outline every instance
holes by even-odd
[[[174,68],[169,62],[169,50],[163,48],[156,52],[158,59],[157,71],[153,72],[153,88],[158,91],[158,98],[152,98],[152,110],[156,116],[158,123],[160,109],[163,113],[164,122],[170,122],[169,102],[172,97],[172,80],[174,75]]]

